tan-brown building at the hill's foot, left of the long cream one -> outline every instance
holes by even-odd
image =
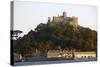
[[[73,52],[68,50],[50,50],[48,51],[48,58],[63,58],[63,59],[72,59]]]

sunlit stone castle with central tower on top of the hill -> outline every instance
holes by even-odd
[[[77,17],[68,17],[66,12],[63,12],[62,16],[53,16],[53,19],[51,20],[50,17],[48,17],[48,23],[50,24],[68,24],[72,25],[74,30],[77,30],[78,27],[78,18]]]

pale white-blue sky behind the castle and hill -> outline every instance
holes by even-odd
[[[38,24],[47,23],[48,17],[62,15],[78,17],[78,24],[97,30],[98,9],[93,5],[59,4],[32,1],[14,1],[14,30],[27,34]]]

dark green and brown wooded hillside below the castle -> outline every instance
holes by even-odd
[[[34,50],[48,51],[56,49],[76,49],[78,51],[97,50],[97,32],[78,26],[77,30],[68,24],[40,23],[27,35],[12,39],[14,52],[31,53]]]

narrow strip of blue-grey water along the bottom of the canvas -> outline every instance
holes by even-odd
[[[15,62],[15,66],[26,66],[26,65],[42,65],[42,64],[57,64],[57,63],[73,63],[73,62],[88,62],[96,61],[97,59],[81,59],[81,60],[56,60],[56,61],[33,61],[33,62]]]

